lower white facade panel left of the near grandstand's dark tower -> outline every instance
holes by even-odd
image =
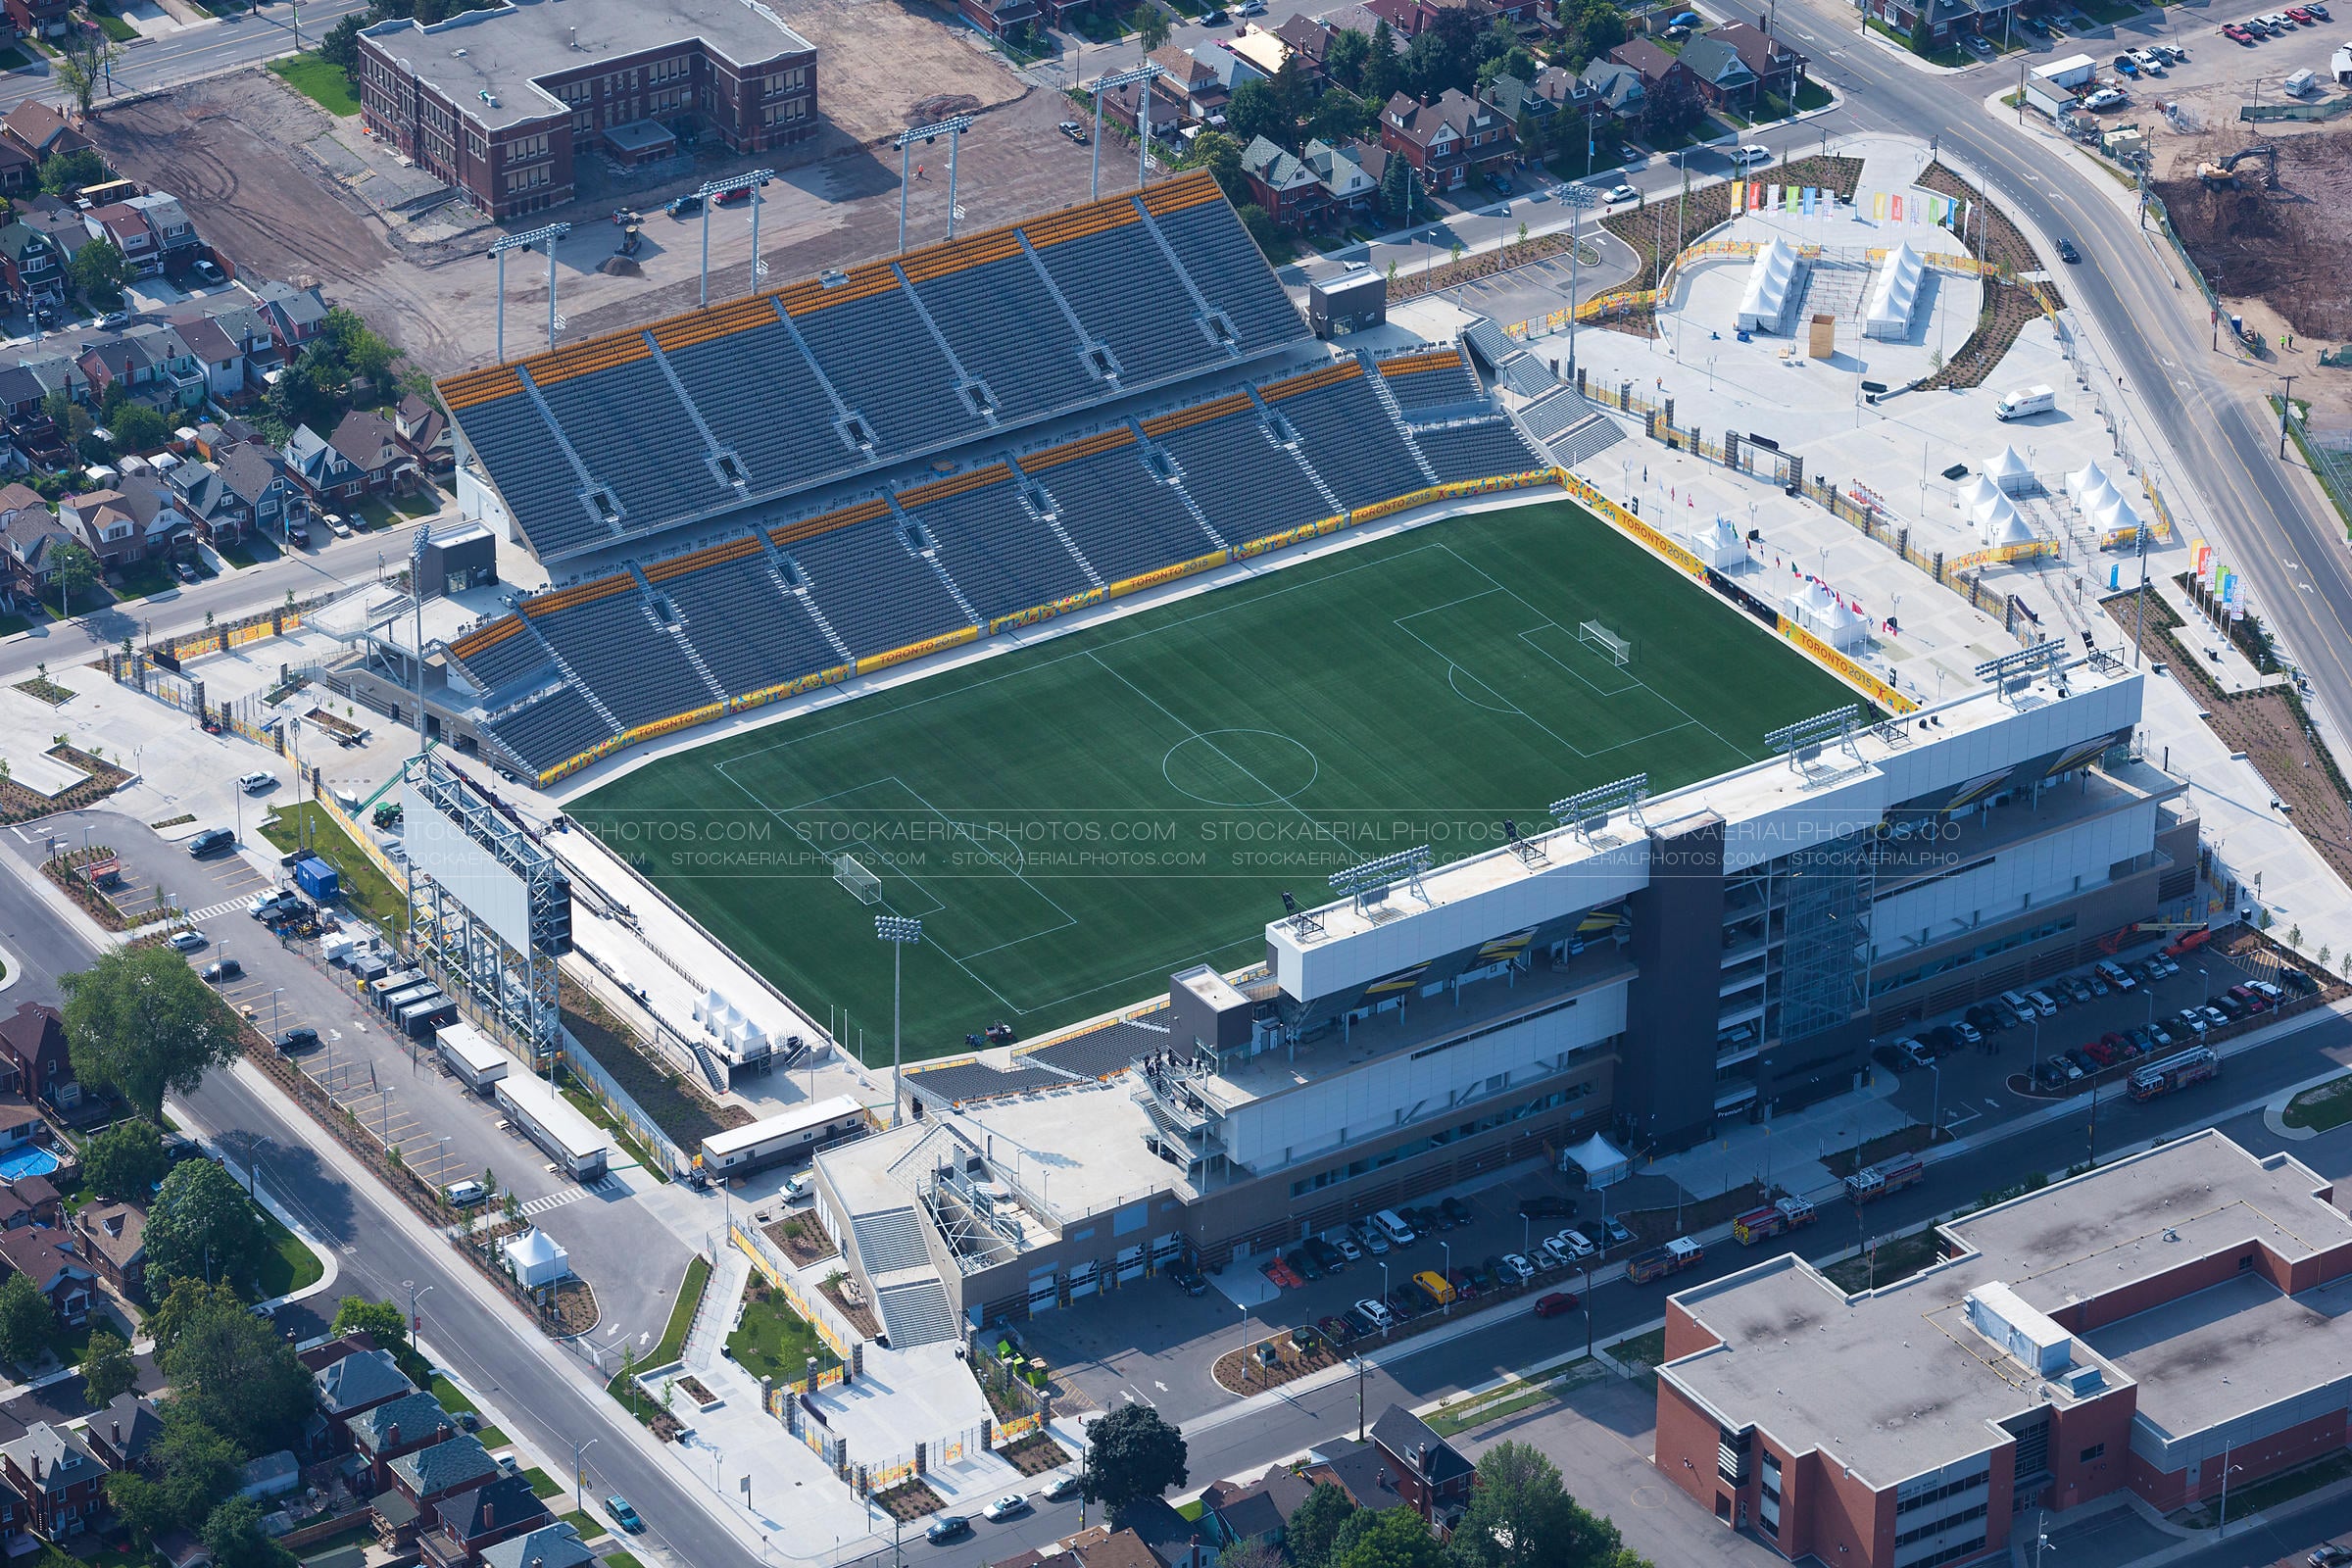
[[[1489,980],[1489,985],[1501,985]],[[1559,1058],[1625,1032],[1625,983],[1585,992],[1576,1006],[1496,1030],[1451,1051],[1411,1051],[1367,1063],[1225,1117],[1225,1154],[1251,1171],[1275,1171],[1310,1154],[1378,1138],[1449,1110],[1496,1103],[1559,1072]],[[1423,1001],[1421,1006],[1444,1006]],[[1489,1086],[1503,1077],[1503,1084]]]

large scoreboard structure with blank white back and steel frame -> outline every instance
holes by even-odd
[[[409,943],[452,990],[532,1051],[562,1041],[555,961],[572,952],[572,882],[555,856],[433,752],[400,776]]]

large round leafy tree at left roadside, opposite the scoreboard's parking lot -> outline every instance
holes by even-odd
[[[113,1088],[148,1121],[162,1121],[167,1091],[191,1093],[242,1048],[230,1011],[169,947],[108,950],[61,985],[75,1077]]]

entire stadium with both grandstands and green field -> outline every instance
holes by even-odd
[[[1915,710],[1491,324],[1369,341],[1178,176],[442,386],[562,578],[430,607],[428,731],[868,1063],[903,961],[816,1161],[896,1345],[1842,1093],[2194,875],[2138,675]]]

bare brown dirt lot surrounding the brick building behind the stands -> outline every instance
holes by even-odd
[[[898,0],[809,0],[790,24],[821,49],[818,108],[826,134],[800,162],[764,155],[776,181],[762,193],[760,254],[767,282],[807,277],[887,254],[898,242],[898,155],[887,139],[908,122],[974,113],[957,158],[957,230],[1049,212],[1087,197],[1089,148],[1054,132],[1068,115],[1058,94],[1035,89],[946,26],[943,14]],[[854,26],[851,26],[854,24]],[[880,45],[880,47],[877,47]],[[433,374],[494,357],[496,270],[480,226],[440,244],[407,244],[388,221],[299,148],[327,118],[261,71],[216,78],[174,94],[103,108],[92,120],[108,160],[127,176],[191,202],[205,237],[240,277],[318,282],[327,301],[365,315]],[[917,148],[922,179],[908,190],[908,244],[948,233],[946,146]],[[706,179],[757,167],[757,158],[710,153],[677,160],[621,186],[583,158],[583,197],[529,226],[572,221],[555,247],[557,343],[694,308],[703,226],[673,221],[661,202]],[[1103,190],[1134,179],[1124,158],[1103,160]],[[607,273],[628,202],[644,212],[635,266]],[[445,214],[440,214],[447,219]],[[750,219],[710,219],[710,299],[750,289]],[[541,256],[515,254],[506,270],[506,350],[546,346],[548,284]]]

